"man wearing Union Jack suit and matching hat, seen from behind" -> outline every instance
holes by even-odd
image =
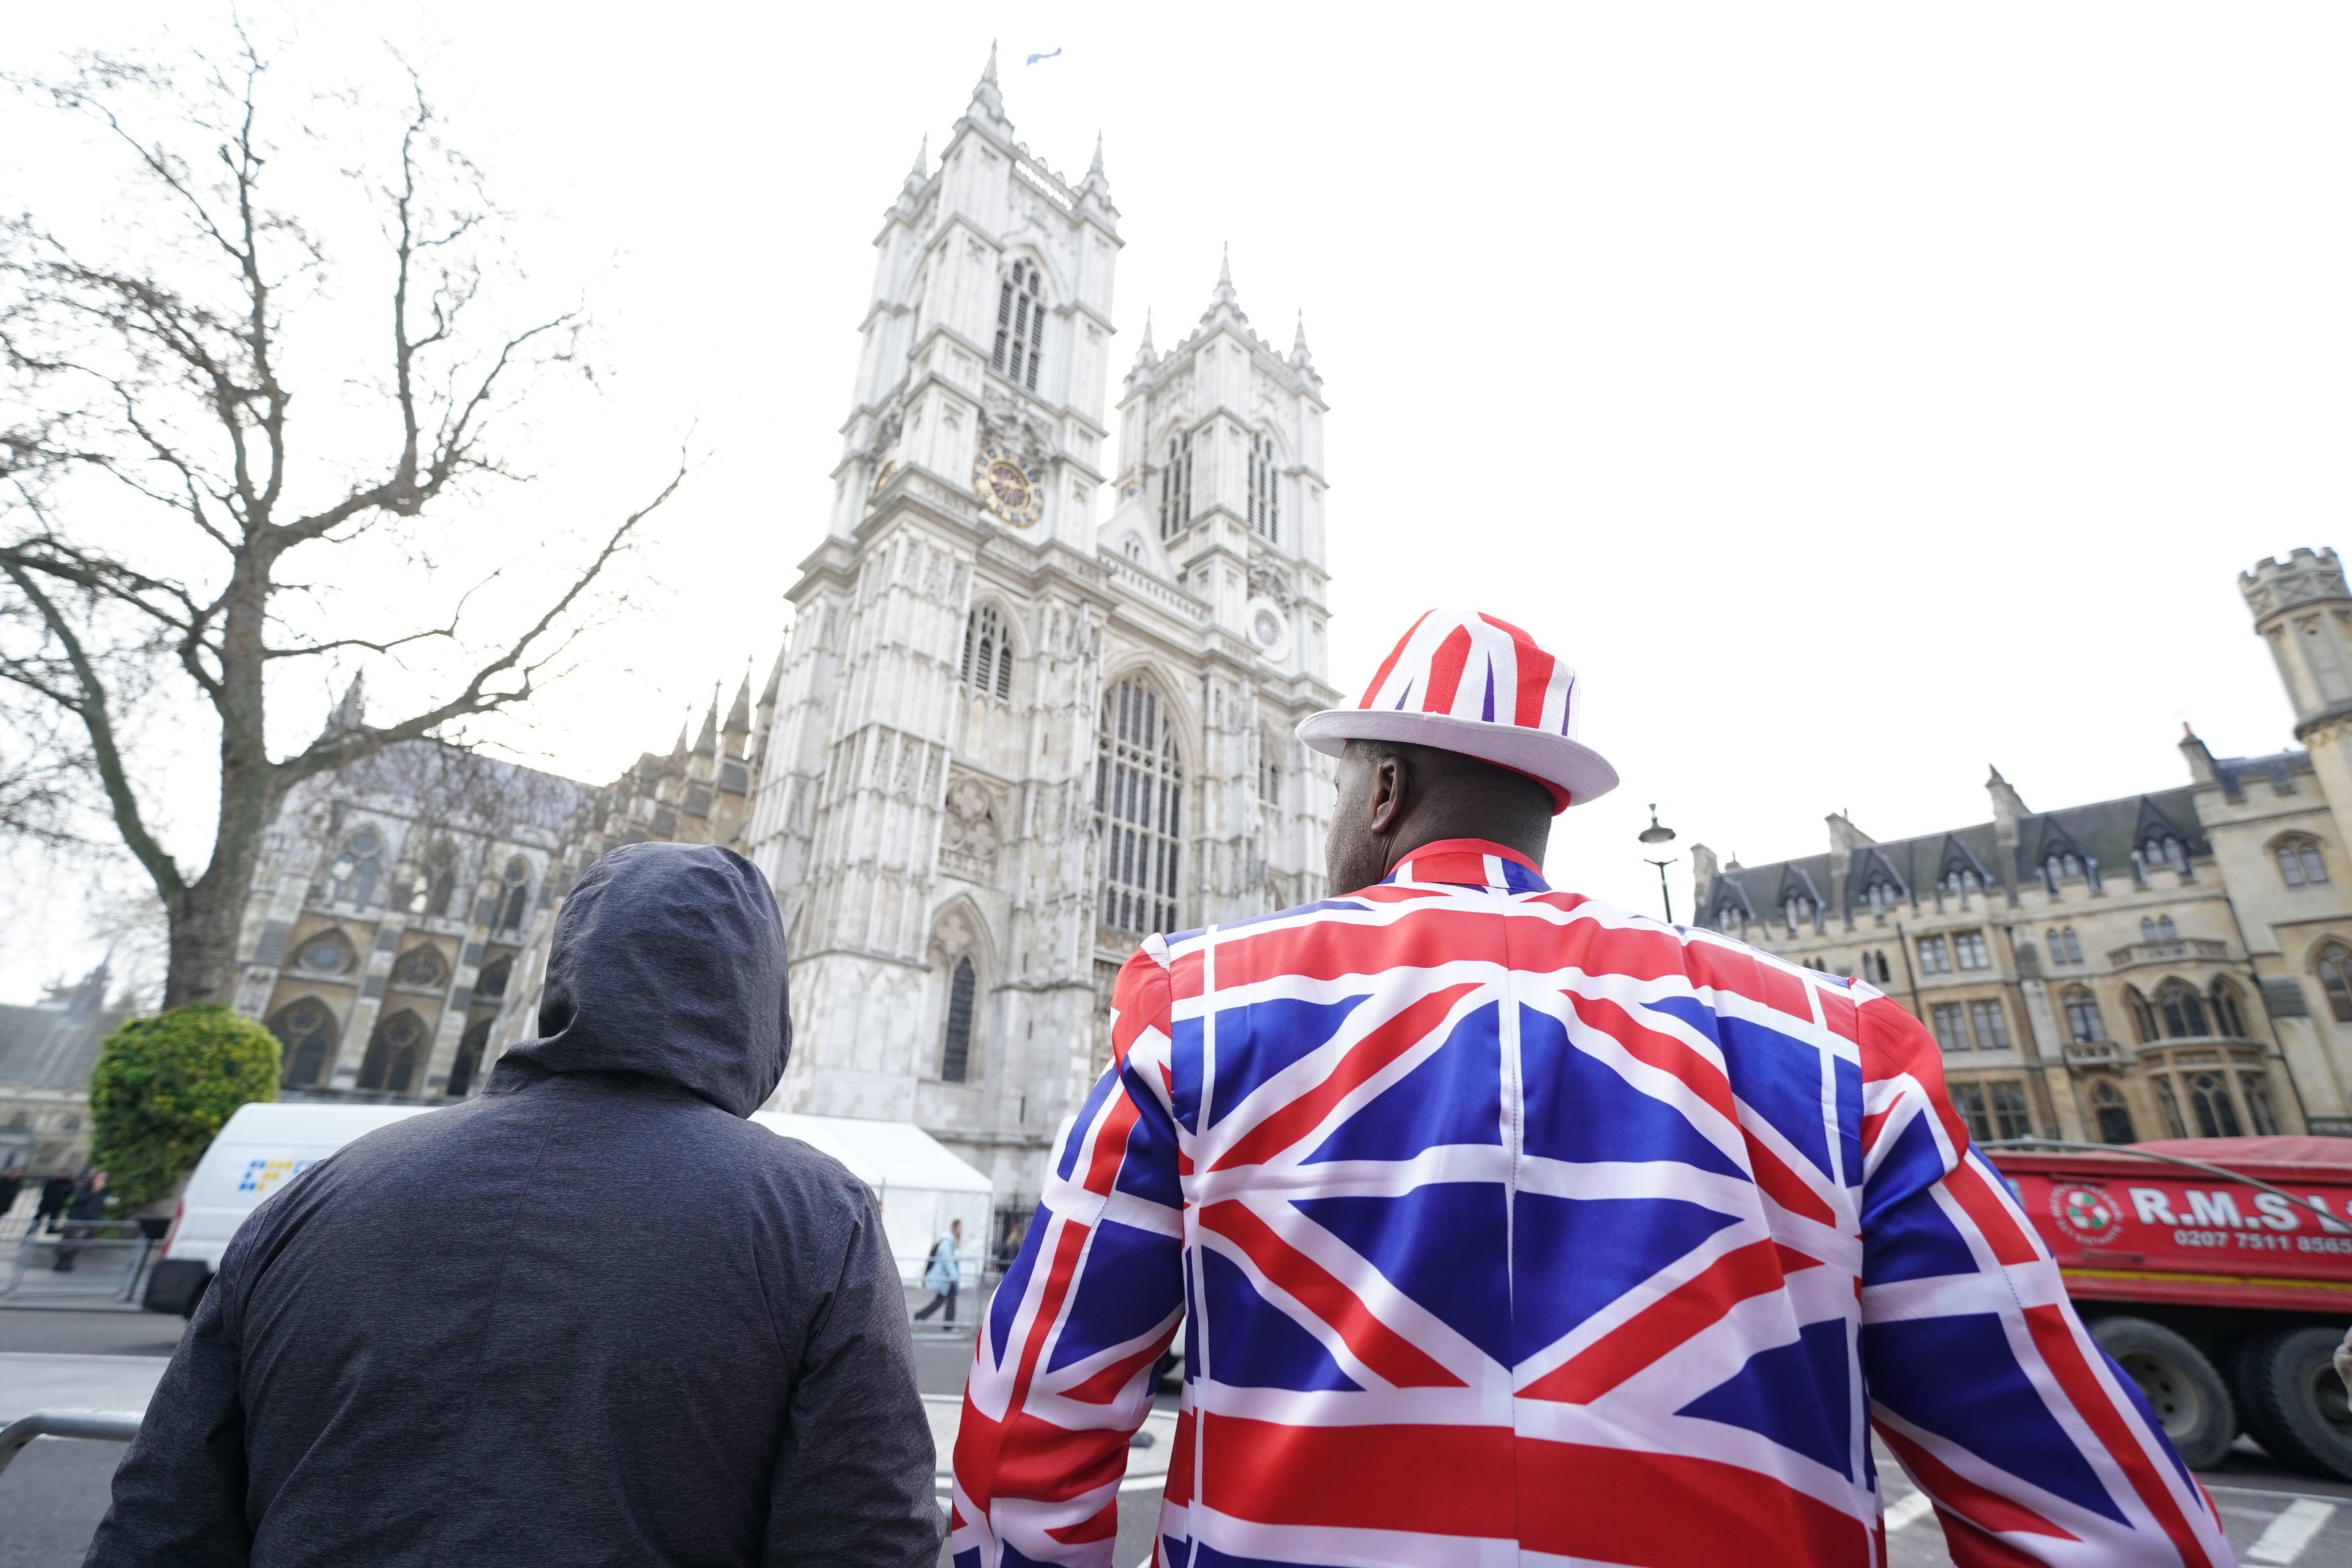
[[[1423,616],[1324,903],[1155,936],[985,1314],[957,1568],[1105,1568],[1183,1328],[1160,1561],[2230,1563],[1900,1006],[1543,879],[1616,771],[1576,675]]]

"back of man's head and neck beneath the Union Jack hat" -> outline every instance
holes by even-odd
[[[1324,842],[1329,886],[1334,893],[1371,886],[1439,839],[1489,839],[1543,865],[1552,813],[1552,792],[1526,773],[1435,745],[1350,741]]]

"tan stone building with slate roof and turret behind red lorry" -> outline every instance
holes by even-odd
[[[1743,867],[1693,846],[1698,919],[1863,976],[1945,1044],[1978,1135],[2352,1135],[2352,590],[2333,550],[2239,578],[2307,750],[2190,783]]]

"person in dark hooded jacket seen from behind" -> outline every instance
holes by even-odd
[[[539,1039],[238,1229],[89,1568],[931,1568],[882,1213],[746,1121],[788,1051],[767,879],[607,853],[564,896]]]

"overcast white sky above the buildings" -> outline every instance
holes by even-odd
[[[7,56],[202,38],[193,9],[24,9]],[[1762,863],[1842,806],[1983,820],[1987,764],[2037,809],[2180,783],[2183,719],[2288,745],[2237,574],[2352,543],[2340,5],[249,14],[299,33],[289,82],[409,52],[534,277],[597,315],[602,397],[485,529],[595,522],[684,430],[708,451],[659,588],[506,736],[581,778],[774,656],[870,240],[993,35],[1037,155],[1075,176],[1103,134],[1117,367],[1223,242],[1270,336],[1305,313],[1336,684],[1437,599],[1581,668],[1625,785],[1562,818],[1555,882],[1656,910],[1644,802]],[[38,207],[49,148],[5,115],[0,205]],[[9,900],[0,997],[92,957],[71,893]]]

